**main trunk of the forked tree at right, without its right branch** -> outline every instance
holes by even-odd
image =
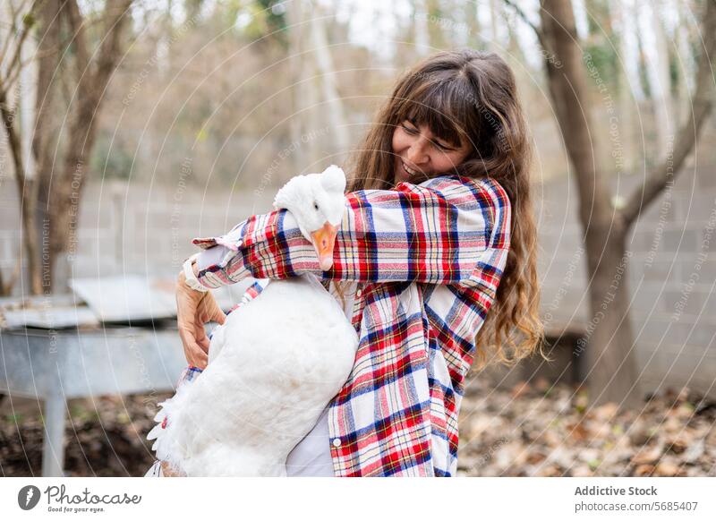
[[[615,223],[609,189],[597,167],[594,134],[587,101],[583,56],[578,46],[575,18],[569,0],[545,0],[542,30],[561,69],[548,74],[550,93],[557,105],[558,123],[574,167],[579,192],[579,218],[584,229],[587,273],[590,280],[590,315],[587,330],[587,367],[590,396],[594,404],[616,401],[632,406],[636,364],[629,326],[626,273],[616,280],[618,260],[624,256],[625,230]],[[623,267],[626,271],[626,264]]]

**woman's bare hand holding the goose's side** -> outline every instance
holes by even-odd
[[[182,338],[184,356],[191,365],[204,369],[209,361],[209,337],[204,324],[223,324],[226,315],[218,307],[211,292],[202,293],[186,285],[183,272],[176,283],[176,320]]]

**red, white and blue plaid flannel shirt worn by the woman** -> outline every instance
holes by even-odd
[[[442,176],[348,193],[346,209],[329,271],[293,216],[278,210],[194,239],[228,248],[199,281],[214,288],[313,273],[357,283],[360,342],[328,411],[335,474],[455,475],[465,375],[507,261],[507,193],[489,177]]]

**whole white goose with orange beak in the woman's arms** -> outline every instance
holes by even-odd
[[[345,209],[345,174],[328,167],[277,192],[330,269]],[[345,383],[358,337],[317,278],[273,280],[229,313],[200,377],[162,404],[148,439],[158,459],[189,476],[286,475],[286,457]],[[328,442],[328,440],[327,440]]]

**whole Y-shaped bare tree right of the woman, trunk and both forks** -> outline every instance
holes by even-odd
[[[544,0],[541,24],[538,36],[542,46],[562,64],[562,68],[557,69],[553,60],[545,60],[550,96],[575,173],[587,250],[592,316],[587,327],[586,345],[590,395],[595,405],[611,401],[620,406],[632,406],[639,393],[634,336],[628,313],[626,233],[669,180],[678,174],[712,107],[711,61],[716,54],[716,0],[708,0],[703,17],[704,46],[691,117],[678,134],[673,154],[635,190],[623,210],[611,208],[610,192],[601,181],[601,171],[592,152],[596,146],[592,142],[594,133],[590,132],[589,111],[583,109],[589,107],[589,103],[569,0]]]

